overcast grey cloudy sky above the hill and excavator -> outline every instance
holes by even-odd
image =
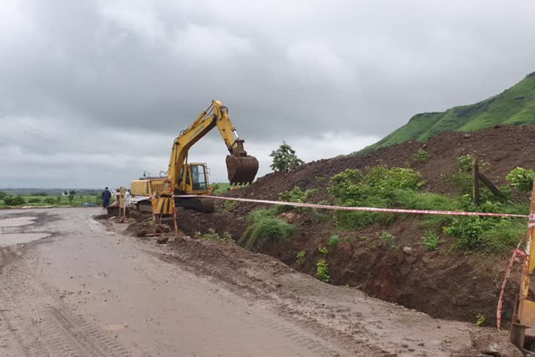
[[[0,188],[166,169],[212,98],[260,174],[372,144],[535,71],[535,1],[1,0]],[[224,181],[217,130],[190,160]]]

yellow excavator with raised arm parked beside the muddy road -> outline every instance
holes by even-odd
[[[258,160],[247,155],[244,140],[238,137],[228,116],[228,108],[219,100],[212,100],[210,106],[173,143],[171,159],[166,176],[144,176],[132,181],[132,199],[139,211],[153,214],[173,214],[175,207],[195,209],[211,213],[214,211],[210,199],[187,197],[187,195],[210,195],[208,167],[204,162],[187,162],[189,149],[210,130],[217,127],[226,144],[226,170],[231,185],[252,183],[258,172]]]

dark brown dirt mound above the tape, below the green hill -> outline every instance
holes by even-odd
[[[419,171],[426,181],[424,190],[451,192],[455,188],[442,174],[456,169],[457,157],[472,154],[488,162],[488,178],[497,185],[506,183],[504,177],[515,167],[535,167],[531,153],[535,149],[535,126],[496,126],[477,132],[444,132],[426,143],[406,142],[387,146],[365,155],[345,156],[309,162],[291,172],[274,172],[259,178],[256,183],[234,190],[233,197],[277,199],[279,192],[300,188],[325,188],[328,179],[345,169],[364,169],[373,165],[388,167],[409,166]],[[429,160],[414,162],[412,155],[424,147]]]

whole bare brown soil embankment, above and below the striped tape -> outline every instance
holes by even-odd
[[[228,195],[277,200],[279,192],[299,186],[302,190],[318,189],[311,202],[325,200],[333,203],[333,197],[327,193],[331,176],[344,169],[364,169],[373,165],[412,167],[426,181],[421,190],[452,193],[456,192],[456,187],[445,174],[454,172],[458,156],[467,154],[486,162],[486,176],[495,184],[504,185],[504,178],[511,169],[535,167],[535,159],[530,155],[535,142],[529,137],[533,135],[535,126],[497,126],[470,133],[446,132],[425,144],[408,142],[366,155],[310,162],[288,173],[267,174],[253,185]],[[415,162],[412,155],[422,147],[427,151],[429,160]],[[238,240],[247,227],[248,213],[259,207],[263,205],[221,204],[213,215],[181,212],[179,224],[187,234],[213,228],[219,233],[228,231]],[[327,256],[333,284],[359,287],[371,296],[401,303],[433,317],[474,322],[479,315],[485,317],[486,324],[494,324],[497,297],[509,253],[488,256],[479,252],[457,252],[451,250],[451,239],[444,234],[440,248],[429,252],[421,245],[426,228],[421,225],[421,219],[416,217],[398,216],[389,225],[373,225],[359,231],[337,230],[330,211],[325,212],[322,220],[307,212],[292,215],[291,220],[297,229],[290,241],[268,243],[255,251],[315,275],[316,261],[322,257],[318,248],[325,246],[329,236],[336,233],[343,241],[329,248]],[[385,230],[396,236],[398,249],[390,249],[379,238]],[[300,251],[307,252],[307,261],[303,266],[296,264],[296,255]],[[506,321],[513,313],[518,287],[518,279],[515,279],[517,273],[518,269],[506,294]]]

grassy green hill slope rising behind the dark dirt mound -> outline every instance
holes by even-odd
[[[408,140],[425,142],[445,131],[474,131],[496,124],[535,123],[535,72],[497,96],[472,105],[453,107],[446,112],[422,113],[390,135],[359,151],[366,153],[382,146]]]

